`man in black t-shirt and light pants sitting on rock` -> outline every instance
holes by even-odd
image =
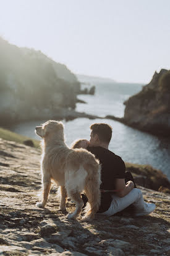
[[[87,150],[101,163],[101,205],[98,213],[112,216],[130,204],[134,206],[135,216],[153,212],[155,204],[144,202],[142,191],[134,188],[134,182],[127,181],[125,184],[124,161],[108,149],[112,127],[108,124],[92,124],[90,129],[90,144]]]

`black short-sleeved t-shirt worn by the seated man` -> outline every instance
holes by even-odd
[[[121,157],[103,147],[87,147],[101,163],[101,190],[115,190],[116,178],[125,178],[125,164]],[[101,204],[98,213],[104,213],[111,205],[113,192],[101,192]]]

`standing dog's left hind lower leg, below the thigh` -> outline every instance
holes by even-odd
[[[78,217],[80,215],[80,213],[82,212],[82,207],[83,207],[83,200],[81,198],[81,193],[79,191],[68,191],[69,192],[69,196],[72,199],[72,201],[75,202],[75,211],[72,214],[68,214],[67,218],[68,219],[76,219],[76,217]]]

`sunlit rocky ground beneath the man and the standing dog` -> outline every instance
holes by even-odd
[[[170,196],[142,188],[150,216],[119,213],[68,220],[57,211],[56,186],[46,209],[36,207],[40,150],[0,139],[0,255],[170,255]],[[72,212],[74,204],[67,203]]]

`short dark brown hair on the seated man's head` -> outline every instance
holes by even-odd
[[[91,124],[93,134],[97,134],[102,142],[109,143],[112,136],[112,127],[109,124]]]

